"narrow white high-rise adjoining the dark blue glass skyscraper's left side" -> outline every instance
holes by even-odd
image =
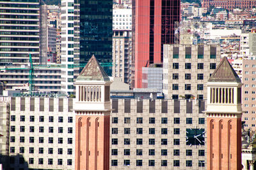
[[[79,3],[61,1],[61,91],[74,93],[74,64],[79,63]]]

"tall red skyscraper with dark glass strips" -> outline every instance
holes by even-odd
[[[179,0],[132,1],[132,45],[135,88],[141,88],[142,67],[163,62],[163,44],[175,42]]]

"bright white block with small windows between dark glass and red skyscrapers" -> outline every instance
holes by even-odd
[[[132,30],[132,9],[113,9],[113,30]]]

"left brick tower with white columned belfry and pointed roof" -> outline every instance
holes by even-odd
[[[109,77],[92,56],[74,84],[76,170],[109,169]]]

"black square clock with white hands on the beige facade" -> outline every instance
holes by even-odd
[[[205,131],[204,128],[187,128],[186,145],[204,145]]]

